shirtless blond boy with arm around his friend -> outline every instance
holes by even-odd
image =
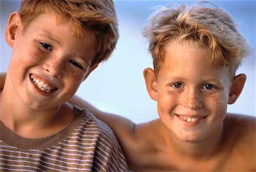
[[[154,70],[144,79],[159,119],[134,124],[99,111],[134,171],[255,171],[255,117],[227,114],[246,80],[236,75],[249,46],[225,12],[198,4],[170,6],[152,16],[144,35]]]

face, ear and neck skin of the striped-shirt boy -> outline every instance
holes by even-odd
[[[23,31],[20,15],[14,12],[5,37],[13,51],[0,94],[1,121],[24,137],[56,133],[73,117],[72,106],[63,103],[97,67],[90,68],[96,55],[93,34],[88,31],[77,38],[68,19],[57,24],[50,13],[38,16]],[[40,130],[41,135],[36,132]]]

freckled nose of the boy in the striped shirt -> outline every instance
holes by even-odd
[[[44,70],[55,78],[61,78],[63,75],[64,64],[57,57],[52,57],[47,59],[47,62],[44,63]]]

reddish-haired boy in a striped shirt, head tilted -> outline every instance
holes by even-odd
[[[0,171],[127,171],[112,130],[66,101],[118,40],[112,1],[24,0],[0,92]]]

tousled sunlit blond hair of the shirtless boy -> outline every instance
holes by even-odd
[[[164,59],[165,46],[169,42],[189,44],[196,48],[207,48],[212,55],[210,61],[216,66],[227,66],[230,75],[235,75],[241,58],[251,53],[245,38],[237,31],[230,15],[213,5],[200,2],[191,7],[172,5],[156,10],[143,35],[149,39],[150,51],[156,75]]]

